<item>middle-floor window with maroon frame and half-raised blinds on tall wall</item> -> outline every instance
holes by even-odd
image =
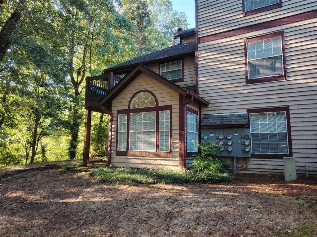
[[[286,79],[283,32],[246,39],[244,42],[247,84]]]

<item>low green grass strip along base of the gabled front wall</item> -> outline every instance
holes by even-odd
[[[231,180],[231,175],[227,173],[210,174],[206,179],[197,175],[196,172],[186,170],[167,169],[142,169],[142,168],[117,168],[99,167],[91,172],[91,176],[103,182],[140,183],[140,184],[187,184],[187,183],[211,183]]]

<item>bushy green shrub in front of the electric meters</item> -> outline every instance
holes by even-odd
[[[212,183],[217,181],[230,181],[232,175],[228,163],[217,154],[220,152],[221,145],[210,140],[203,140],[197,143],[200,154],[193,155],[191,173],[192,178],[197,182]]]

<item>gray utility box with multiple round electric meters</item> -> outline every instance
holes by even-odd
[[[201,140],[209,139],[222,145],[219,156],[251,157],[249,128],[202,129]]]

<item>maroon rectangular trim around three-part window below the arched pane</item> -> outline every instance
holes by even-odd
[[[138,92],[139,93],[139,92]],[[154,97],[155,98],[155,97]],[[129,106],[130,108],[130,106]],[[170,111],[170,151],[159,151],[159,111],[169,110]],[[130,136],[130,113],[138,112],[156,112],[156,151],[129,151],[129,136]],[[119,114],[127,114],[126,121],[126,151],[118,151],[118,125],[119,125]],[[117,133],[116,133],[116,155],[118,156],[140,156],[140,157],[172,157],[172,106],[158,106],[146,107],[146,108],[135,108],[135,109],[123,109],[117,111]]]

